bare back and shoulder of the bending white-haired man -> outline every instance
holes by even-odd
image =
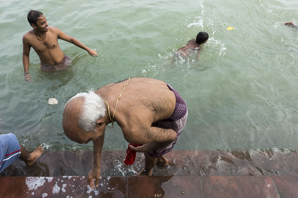
[[[109,101],[114,112],[119,94],[128,80],[103,86],[95,91]],[[121,127],[125,140],[144,144],[139,133],[151,124],[170,117],[176,104],[175,94],[167,84],[152,78],[131,78],[125,86],[115,112],[114,120]],[[141,136],[142,137],[142,136]]]

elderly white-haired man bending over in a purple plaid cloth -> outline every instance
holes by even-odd
[[[121,97],[121,98],[120,98]],[[167,165],[165,153],[172,150],[187,119],[187,107],[169,84],[152,78],[136,77],[112,83],[89,93],[79,93],[65,105],[62,125],[69,139],[93,141],[94,166],[88,183],[94,188],[100,178],[100,158],[105,128],[114,121],[125,140],[143,144],[129,146],[145,153],[145,168],[137,175],[151,175],[156,163]]]

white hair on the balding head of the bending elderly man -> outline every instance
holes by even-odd
[[[79,126],[83,131],[94,131],[96,121],[105,116],[105,104],[103,99],[94,93],[94,89],[88,89],[88,93],[78,93],[73,96],[69,101],[74,98],[82,97],[84,103],[81,107],[81,114],[79,115]],[[68,102],[69,102],[68,101]],[[68,103],[67,102],[67,103]],[[65,104],[65,106],[67,105]],[[64,106],[64,108],[65,108]]]

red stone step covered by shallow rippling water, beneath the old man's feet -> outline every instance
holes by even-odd
[[[102,176],[131,176],[144,167],[144,157],[137,153],[133,165],[125,165],[125,151],[103,151]],[[165,155],[169,165],[157,165],[153,175],[298,175],[296,151],[180,151]],[[48,151],[27,167],[17,160],[0,176],[88,175],[93,166],[93,151]]]

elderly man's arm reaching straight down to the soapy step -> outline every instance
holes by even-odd
[[[97,187],[100,179],[100,159],[101,153],[103,152],[103,142],[105,135],[98,137],[93,140],[93,152],[94,152],[94,165],[88,173],[88,184],[94,189],[94,184]],[[93,181],[95,179],[95,182]]]

